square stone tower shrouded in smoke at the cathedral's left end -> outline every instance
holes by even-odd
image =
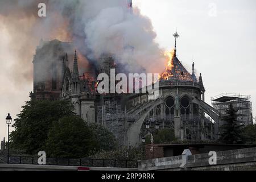
[[[72,55],[72,43],[52,40],[40,41],[34,55],[34,92],[37,100],[58,100],[60,98],[64,68],[68,67],[68,56]]]

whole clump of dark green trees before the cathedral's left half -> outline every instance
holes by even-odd
[[[97,123],[87,124],[73,113],[69,101],[28,101],[14,119],[11,150],[35,155],[80,158],[100,150],[114,150],[114,135]]]

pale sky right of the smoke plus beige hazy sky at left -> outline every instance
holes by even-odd
[[[172,35],[177,30],[180,35],[177,57],[189,72],[195,62],[197,75],[203,76],[208,104],[211,97],[221,93],[250,95],[255,117],[256,1],[134,0],[133,5],[151,20],[155,42],[160,47],[174,48]],[[23,32],[31,28],[31,24],[24,25],[22,19],[15,23],[20,24]],[[30,37],[13,34],[5,25],[0,15],[0,139],[7,137],[7,113],[14,119],[29,100],[34,55],[34,52],[23,52],[26,53],[24,59],[28,60],[27,70],[14,69],[14,65],[24,64],[17,52],[23,45],[22,38]],[[14,36],[18,41],[12,47]],[[35,49],[29,43],[26,46]]]

